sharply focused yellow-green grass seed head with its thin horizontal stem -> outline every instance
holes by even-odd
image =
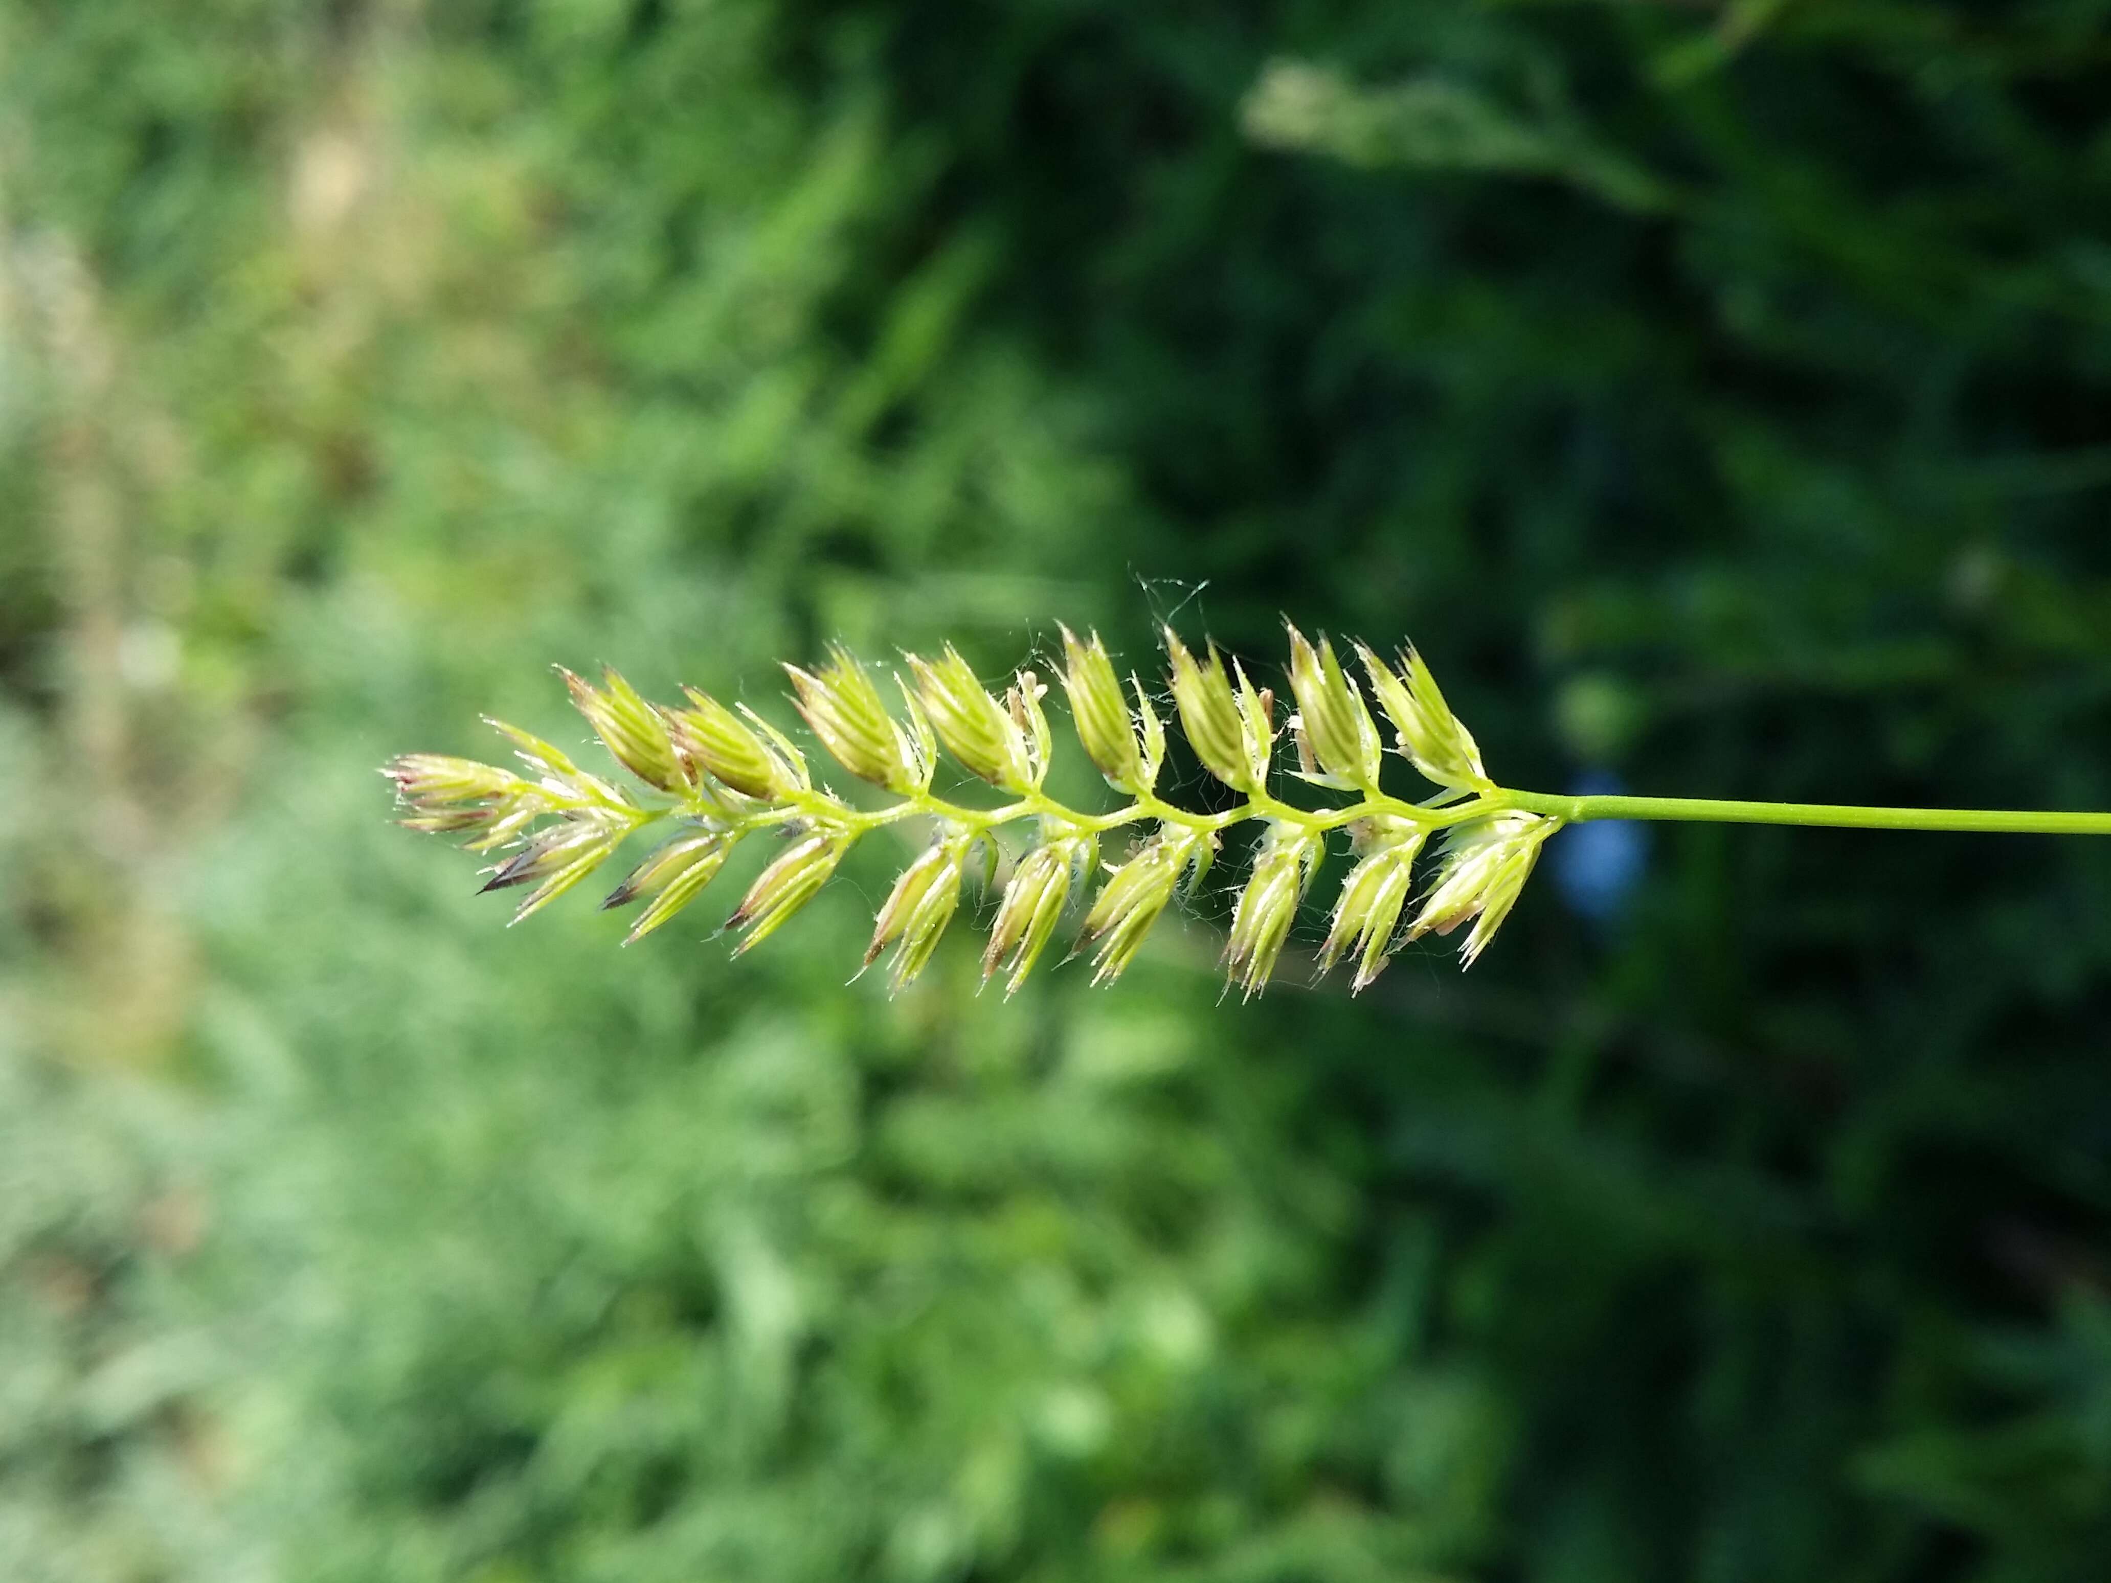
[[[1169,627],[1163,633],[1167,692],[1180,728],[1203,768],[1241,798],[1222,813],[1195,813],[1159,796],[1165,722],[1150,692],[1136,675],[1125,690],[1100,637],[1068,629],[1062,629],[1058,680],[1070,720],[1085,756],[1127,798],[1106,813],[1070,808],[1043,789],[1053,732],[1041,678],[1022,669],[1003,690],[990,690],[952,646],[937,659],[901,656],[904,667],[893,675],[899,713],[847,648],[830,648],[815,669],[785,665],[792,703],[809,732],[836,764],[878,787],[885,796],[878,806],[817,783],[802,749],[745,705],[728,709],[695,688],[684,688],[682,705],[657,705],[614,671],[595,686],[564,667],[572,703],[638,781],[635,789],[583,770],[557,747],[498,720],[490,724],[511,739],[526,773],[437,754],[405,754],[382,773],[397,787],[401,823],[464,836],[469,851],[498,855],[486,870],[486,891],[532,886],[513,922],[585,880],[629,836],[665,825],[667,838],[602,901],[640,905],[625,943],[690,905],[739,842],[779,840],[779,853],[726,920],[739,935],[737,954],[790,922],[861,836],[925,821],[929,844],[895,880],[866,950],[866,967],[893,952],[895,990],[931,960],[961,914],[969,882],[990,884],[996,832],[1018,827],[1026,848],[996,901],[982,956],[984,981],[1003,975],[1005,994],[1026,981],[1070,912],[1083,912],[1074,950],[1091,954],[1093,984],[1119,977],[1182,886],[1193,889],[1210,870],[1224,832],[1250,821],[1262,834],[1222,956],[1226,986],[1237,986],[1243,998],[1275,975],[1298,905],[1336,834],[1347,838],[1355,863],[1334,897],[1319,971],[1353,956],[1351,990],[1364,990],[1406,941],[1429,933],[1467,929],[1459,954],[1471,967],[1518,903],[1539,851],[1573,821],[2111,834],[2111,815],[2103,813],[1516,791],[1488,779],[1480,747],[1419,652],[1408,648],[1387,661],[1355,644],[1359,686],[1326,637],[1309,642],[1296,627],[1288,635],[1294,709],[1279,718],[1273,690],[1254,686],[1243,665],[1226,667],[1214,644],[1195,652]],[[1391,726],[1389,743],[1372,701]],[[1286,732],[1290,762],[1277,762]],[[935,796],[931,777],[942,747],[1005,800],[973,806]],[[1381,789],[1387,747],[1435,787],[1427,800],[1408,802]],[[1288,781],[1334,802],[1288,802],[1277,796]],[[1119,834],[1127,834],[1127,846],[1106,859],[1102,848]],[[1435,859],[1416,895],[1425,848]]]

